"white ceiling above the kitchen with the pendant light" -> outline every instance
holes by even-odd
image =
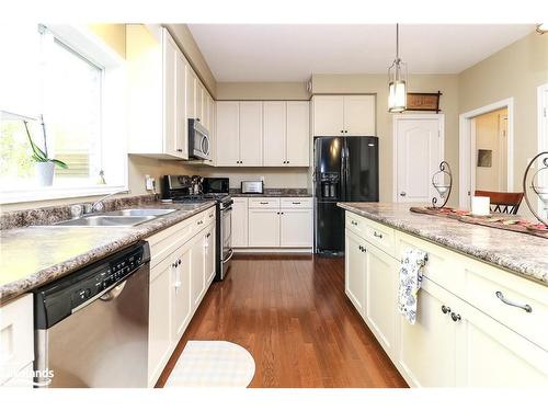
[[[189,24],[217,81],[304,81],[311,73],[385,73],[392,24]],[[413,73],[458,73],[535,30],[534,24],[400,25]]]

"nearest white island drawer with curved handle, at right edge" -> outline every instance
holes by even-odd
[[[461,298],[548,351],[548,287],[479,261],[467,260],[463,265]]]

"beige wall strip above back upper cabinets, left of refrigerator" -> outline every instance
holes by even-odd
[[[219,82],[217,100],[309,100],[306,82]]]

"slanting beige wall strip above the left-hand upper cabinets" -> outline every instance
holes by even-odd
[[[204,82],[207,90],[214,99],[217,98],[217,81],[207,66],[204,55],[198,48],[196,41],[192,36],[186,24],[167,24],[167,27],[173,36],[175,43],[183,50],[184,56],[191,64],[196,75]]]

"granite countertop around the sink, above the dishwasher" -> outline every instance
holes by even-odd
[[[62,277],[213,206],[215,202],[149,202],[139,208],[176,210],[133,227],[30,226],[3,229],[0,231],[0,302]]]

